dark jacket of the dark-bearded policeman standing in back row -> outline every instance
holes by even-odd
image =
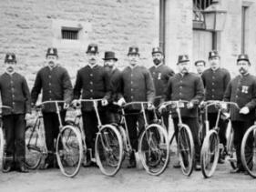
[[[163,96],[164,90],[168,85],[169,77],[174,76],[174,71],[169,66],[161,64],[160,66],[151,66],[149,68],[154,81],[156,96]],[[160,99],[155,100],[155,106],[159,106]]]

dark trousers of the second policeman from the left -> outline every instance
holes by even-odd
[[[60,112],[61,121],[64,125],[66,110]],[[43,113],[44,125],[46,131],[46,147],[48,150],[47,161],[53,163],[55,148],[55,139],[59,133],[59,120],[56,112]]]

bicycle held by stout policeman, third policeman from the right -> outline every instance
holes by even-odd
[[[185,101],[185,100],[167,101],[167,102],[163,102],[161,106],[165,106],[165,107],[170,106],[170,111],[174,110],[178,115],[179,123],[178,123],[177,146],[178,146],[179,162],[180,162],[182,173],[185,176],[189,177],[193,172],[193,166],[195,161],[194,140],[193,140],[191,131],[189,129],[189,126],[187,126],[186,124],[183,124],[181,113],[180,113],[180,108],[185,107],[185,104],[187,103],[189,103],[189,101]],[[169,145],[172,144],[176,134],[177,134],[176,131],[174,131],[174,133],[169,139]]]

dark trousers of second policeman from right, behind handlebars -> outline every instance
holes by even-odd
[[[209,126],[210,129],[212,129],[216,124],[218,113],[209,113],[208,119],[209,119]],[[219,137],[220,137],[220,144],[223,144],[225,147],[227,144],[227,138],[226,138],[226,130],[227,130],[227,121],[220,118],[219,122],[220,131],[219,131]]]

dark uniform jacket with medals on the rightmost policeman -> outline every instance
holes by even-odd
[[[250,113],[242,115],[235,106],[230,106],[231,120],[247,121],[255,119],[256,106],[256,77],[247,74],[246,76],[236,76],[230,81],[224,96],[225,101],[231,101],[238,106],[248,106]]]

